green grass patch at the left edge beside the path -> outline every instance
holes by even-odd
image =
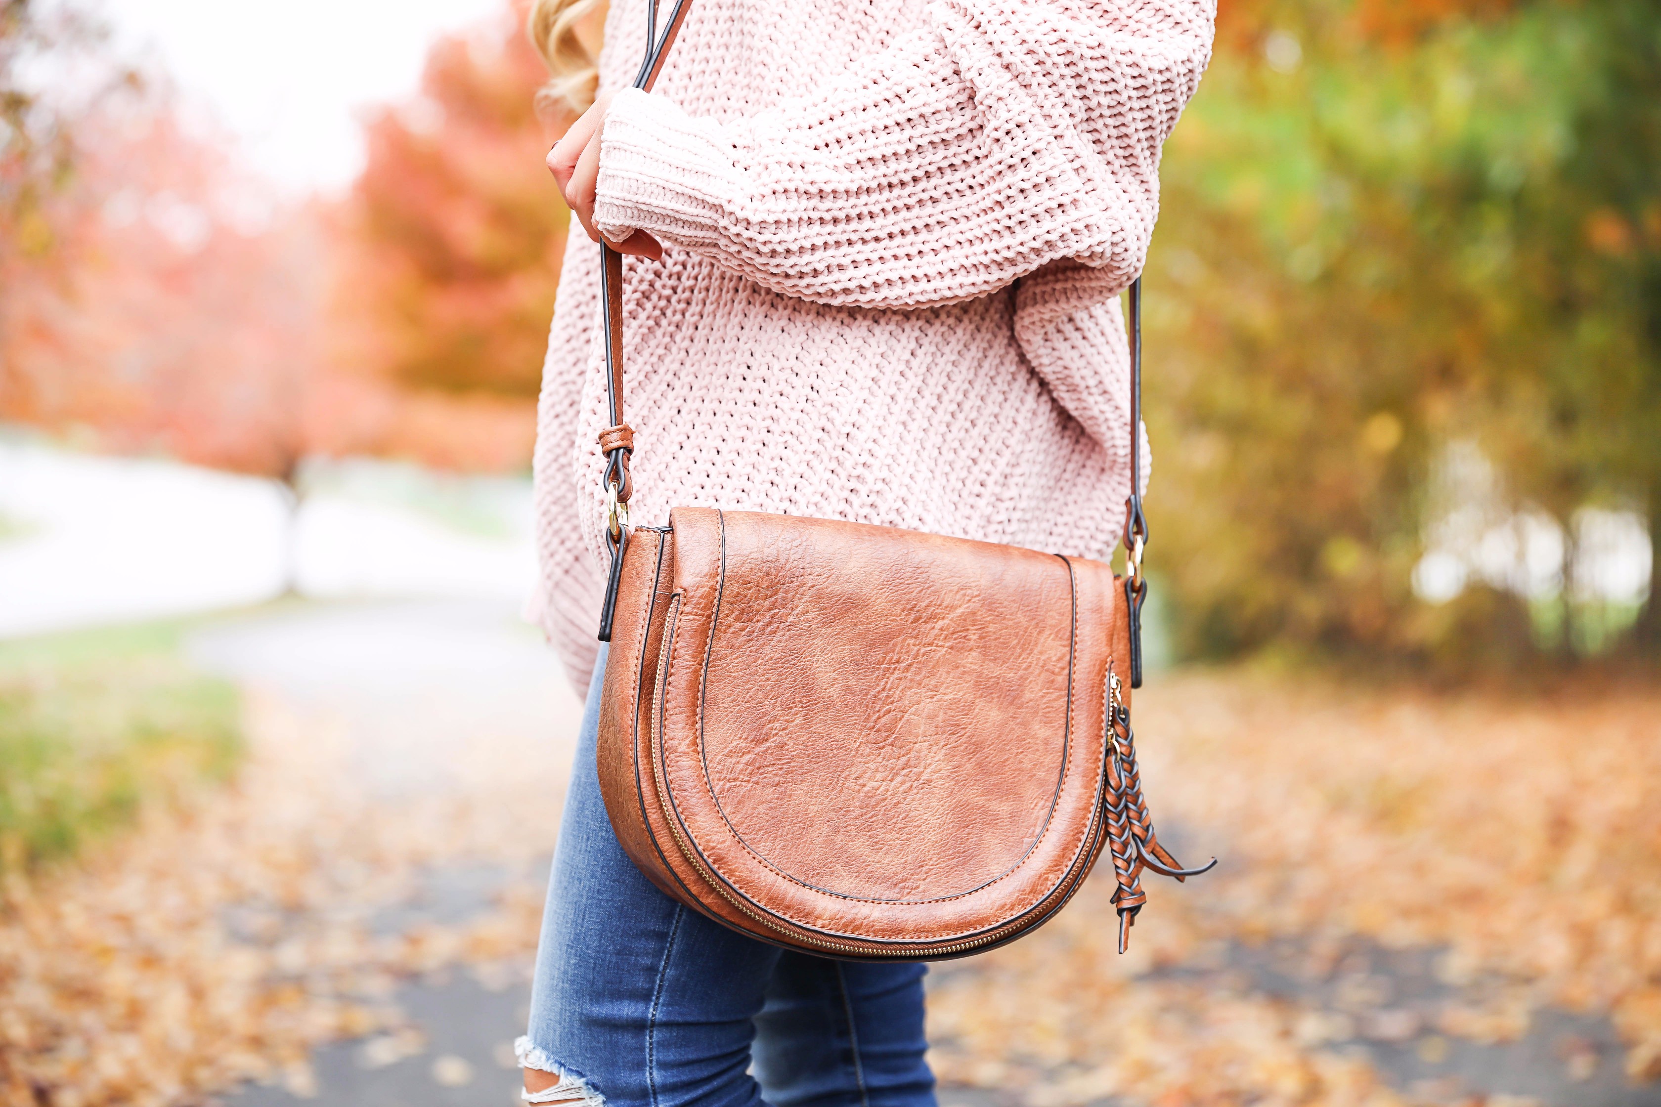
[[[0,644],[0,873],[70,858],[231,775],[238,692],[191,669],[179,637],[145,624]]]

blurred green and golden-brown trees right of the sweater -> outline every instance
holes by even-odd
[[[1653,0],[1231,10],[1151,254],[1151,511],[1186,652],[1586,646],[1570,586],[1553,637],[1503,581],[1438,606],[1412,579],[1467,440],[1508,513],[1556,519],[1568,584],[1578,510],[1661,518],[1658,27]]]

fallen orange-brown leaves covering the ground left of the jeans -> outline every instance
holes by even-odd
[[[307,1051],[410,1032],[404,979],[465,963],[520,974],[553,820],[533,782],[377,802],[339,734],[254,697],[243,782],[158,813],[85,866],[13,876],[0,921],[0,1102],[189,1104],[241,1080],[311,1087]],[[458,767],[467,775],[467,767]],[[495,909],[384,933],[427,866],[520,873]]]

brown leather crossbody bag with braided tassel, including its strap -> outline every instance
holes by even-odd
[[[648,17],[638,88],[688,7],[661,35]],[[1123,951],[1143,870],[1204,871],[1154,836],[1131,735],[1148,589],[1139,282],[1118,578],[1083,558],[786,514],[676,508],[668,526],[630,528],[623,259],[603,249],[600,787],[623,850],[666,895],[762,941],[937,959],[1041,924],[1106,846]]]

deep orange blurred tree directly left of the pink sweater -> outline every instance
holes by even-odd
[[[545,80],[515,12],[439,41],[420,96],[369,123],[339,287],[352,360],[415,388],[535,398],[566,226],[533,108]]]

